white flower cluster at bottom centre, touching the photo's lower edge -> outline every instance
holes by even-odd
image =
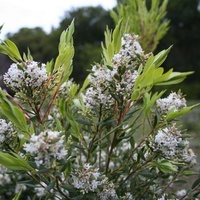
[[[98,186],[103,187],[103,190],[98,196],[100,200],[112,198],[118,199],[114,189],[114,184],[108,181],[107,177],[100,174],[98,168],[93,168],[90,164],[84,164],[82,171],[76,171],[72,175],[72,185],[80,189],[82,194],[95,192]]]

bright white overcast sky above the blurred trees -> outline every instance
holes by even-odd
[[[47,33],[59,25],[65,11],[82,6],[112,9],[116,0],[0,0],[0,38],[22,27],[42,27]]]

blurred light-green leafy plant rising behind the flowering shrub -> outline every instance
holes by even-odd
[[[161,4],[161,5],[160,5]],[[169,29],[169,20],[166,20],[168,0],[151,0],[148,8],[144,0],[127,0],[117,5],[111,11],[115,23],[123,19],[123,26],[129,33],[140,35],[140,43],[146,52],[153,52],[159,41]]]

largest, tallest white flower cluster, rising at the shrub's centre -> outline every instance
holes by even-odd
[[[89,76],[91,87],[86,90],[83,100],[88,108],[95,105],[112,105],[114,96],[123,95],[129,99],[138,77],[135,70],[138,56],[145,59],[144,52],[137,41],[138,36],[125,34],[119,53],[112,59],[112,67],[95,65]],[[140,63],[141,64],[141,63]]]

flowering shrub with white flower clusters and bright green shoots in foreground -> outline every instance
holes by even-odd
[[[119,23],[80,87],[69,80],[73,31],[72,23],[46,64],[22,58],[10,40],[0,46],[15,62],[4,75],[15,96],[0,91],[1,199],[198,198],[200,179],[179,184],[198,172],[178,119],[198,105],[152,92],[191,72],[164,72],[170,48],[145,54]]]

